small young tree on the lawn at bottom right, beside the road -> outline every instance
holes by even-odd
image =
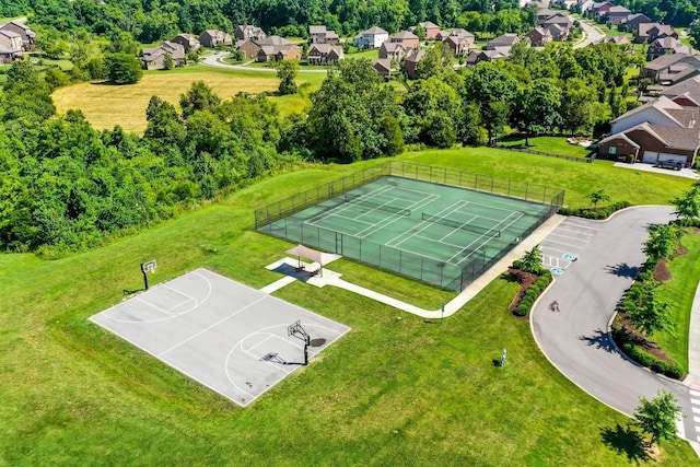
[[[653,399],[640,397],[639,401],[634,418],[639,428],[651,434],[652,445],[676,436],[676,415],[681,408],[675,394],[661,389]]]

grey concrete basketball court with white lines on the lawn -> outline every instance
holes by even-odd
[[[159,284],[90,318],[244,407],[349,327],[207,269]]]

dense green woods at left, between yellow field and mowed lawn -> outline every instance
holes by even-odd
[[[265,95],[222,102],[203,83],[180,112],[154,96],[143,137],[57,116],[51,86],[26,61],[0,94],[0,250],[55,255],[168,219],[299,162],[280,154]]]

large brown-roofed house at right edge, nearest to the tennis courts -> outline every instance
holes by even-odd
[[[700,148],[700,108],[684,106],[662,95],[612,120],[610,136],[598,143],[598,154],[633,155],[635,161],[695,163]]]

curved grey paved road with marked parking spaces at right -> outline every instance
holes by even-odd
[[[561,373],[628,416],[639,406],[640,396],[653,398],[660,389],[675,393],[685,415],[680,434],[698,442],[696,424],[700,423],[693,416],[700,417],[700,393],[692,394],[687,386],[627,360],[608,334],[617,302],[645,259],[641,245],[648,238],[648,226],[667,223],[672,212],[669,207],[640,207],[620,211],[605,222],[579,218],[562,222],[541,246],[546,261],[561,261],[564,272],[534,308],[532,329],[545,355]],[[559,259],[567,253],[578,259]],[[550,310],[553,301],[559,303],[559,312]]]

